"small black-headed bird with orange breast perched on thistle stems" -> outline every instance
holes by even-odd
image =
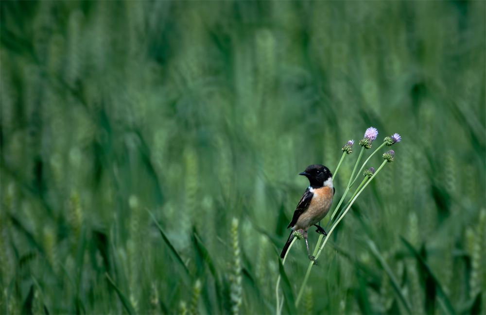
[[[311,253],[309,252],[307,229],[314,225],[317,227],[316,232],[322,232],[324,235],[327,235],[326,231],[324,231],[322,227],[316,225],[316,223],[328,214],[332,204],[332,198],[334,197],[335,188],[332,185],[332,174],[326,166],[312,164],[308,166],[305,171],[299,173],[299,175],[307,177],[309,180],[309,187],[307,187],[302,198],[300,198],[300,201],[295,208],[292,221],[287,226],[287,229],[292,228],[292,232],[282,249],[280,257],[285,257],[285,253],[289,249],[290,243],[292,243],[292,239],[294,238],[294,231],[302,230],[308,257],[317,264],[315,257],[311,256]]]

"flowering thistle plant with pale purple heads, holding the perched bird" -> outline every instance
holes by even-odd
[[[351,208],[351,206],[353,205],[353,203],[356,201],[356,199],[364,191],[364,189],[366,188],[366,186],[378,175],[378,173],[383,168],[383,166],[385,166],[385,164],[393,162],[394,157],[395,157],[395,152],[393,150],[389,150],[389,151],[383,153],[382,154],[383,162],[380,165],[380,167],[378,167],[378,169],[376,171],[375,171],[375,168],[369,167],[369,168],[367,168],[363,172],[363,176],[364,176],[363,181],[360,183],[360,185],[358,186],[358,188],[356,188],[355,192],[353,193],[351,199],[349,199],[349,201],[347,202],[347,204],[342,209],[340,209],[340,206],[343,203],[344,199],[346,198],[346,195],[347,195],[347,192],[349,191],[349,188],[357,180],[357,178],[359,177],[359,174],[361,173],[361,171],[363,170],[364,166],[369,161],[369,159],[371,158],[371,156],[373,156],[378,150],[382,149],[383,146],[385,146],[385,145],[386,146],[392,146],[393,144],[401,141],[401,137],[400,137],[400,135],[398,133],[394,133],[392,136],[386,137],[383,140],[382,145],[380,147],[378,147],[373,153],[370,154],[370,156],[366,159],[366,161],[363,163],[363,165],[361,166],[360,170],[358,171],[358,175],[356,177],[354,177],[354,174],[356,172],[356,168],[359,165],[360,160],[361,160],[361,158],[363,156],[364,149],[370,149],[371,148],[371,145],[372,145],[372,142],[376,139],[377,136],[378,136],[378,130],[376,128],[374,128],[374,127],[370,127],[368,129],[366,129],[366,132],[364,133],[364,137],[360,140],[359,144],[360,144],[360,146],[362,148],[361,148],[360,154],[358,156],[358,159],[357,159],[357,161],[355,163],[354,169],[353,169],[353,171],[351,173],[351,176],[349,178],[349,181],[347,183],[346,190],[345,190],[342,198],[339,200],[338,205],[336,206],[336,208],[332,212],[332,215],[331,215],[331,217],[330,217],[330,219],[329,219],[326,227],[324,228],[325,230],[327,230],[327,228],[330,227],[330,230],[329,230],[327,236],[325,237],[324,242],[322,242],[322,240],[324,238],[324,235],[323,234],[320,234],[319,235],[319,239],[318,239],[317,244],[316,244],[316,246],[314,248],[314,251],[313,251],[313,254],[312,255],[315,257],[315,260],[317,260],[317,258],[321,254],[322,250],[326,246],[326,244],[327,244],[327,242],[329,240],[329,237],[332,234],[332,232],[334,231],[334,229],[336,228],[337,224],[344,218],[344,216],[346,216],[347,212],[349,211],[349,209]],[[350,141],[348,141],[342,147],[343,155],[341,157],[341,160],[339,161],[338,166],[336,167],[336,171],[334,172],[334,178],[336,177],[337,170],[339,169],[339,166],[341,165],[344,157],[347,156],[348,154],[350,154],[352,152],[352,145],[353,145],[353,143],[354,143],[354,141],[353,140],[350,140]],[[337,214],[337,216],[336,216],[336,214]],[[298,236],[299,236],[298,231],[295,231],[294,234],[295,234],[294,236],[296,236],[296,237],[294,237],[294,240],[292,241],[289,249],[287,250],[287,253],[286,253],[285,257],[283,258],[282,265],[285,264],[285,260],[287,258],[287,255],[288,255],[290,249],[292,248],[292,245],[294,244],[295,240],[298,239]],[[321,245],[321,242],[322,242],[322,245]],[[311,269],[312,269],[312,266],[313,265],[314,265],[314,262],[313,261],[310,262],[309,267],[307,269],[307,273],[306,273],[306,275],[304,277],[304,281],[301,284],[301,287],[299,289],[297,298],[295,300],[295,306],[296,307],[299,305],[299,302],[300,302],[300,300],[301,300],[301,298],[302,298],[302,296],[303,296],[303,294],[305,292],[306,283],[307,283],[307,281],[309,279],[310,272],[311,272]],[[279,284],[280,284],[280,277],[278,277],[278,279],[277,279],[277,286],[276,286],[277,314],[280,314],[280,312],[281,312],[281,305],[282,305],[282,301],[280,301],[279,292],[278,292]]]

